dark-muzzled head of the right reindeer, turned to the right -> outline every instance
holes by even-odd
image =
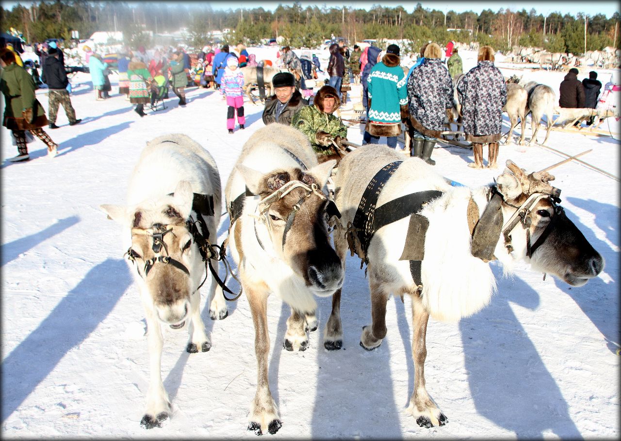
[[[554,176],[547,171],[527,175],[507,160],[507,168],[496,180],[504,198],[504,239],[509,235],[510,247],[530,261],[533,269],[581,286],[602,271],[604,259],[558,205],[561,191],[548,184],[552,180]],[[515,216],[520,219],[511,228],[507,224]]]

